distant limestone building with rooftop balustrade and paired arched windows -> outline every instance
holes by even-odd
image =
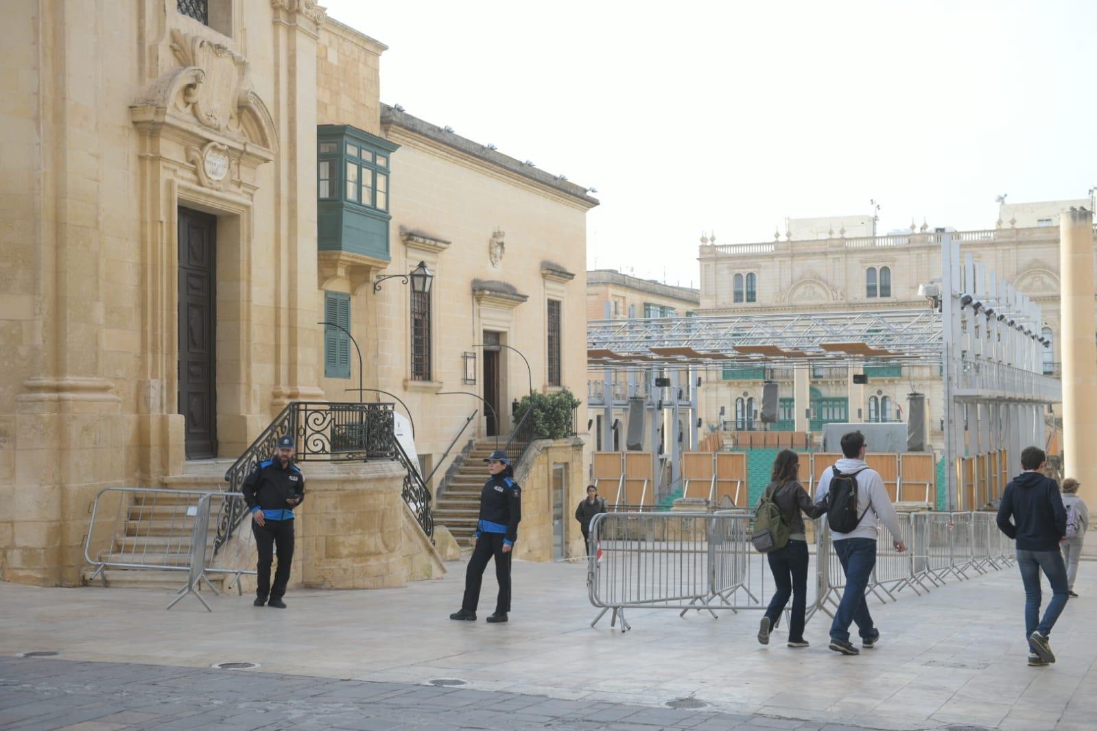
[[[1056,342],[1059,316],[1059,215],[1082,202],[1049,202],[1003,205],[993,227],[955,231],[920,227],[885,236],[850,236],[845,228],[853,217],[796,219],[784,238],[700,247],[701,305],[699,313],[766,313],[827,310],[878,310],[928,307],[918,286],[940,281],[940,237],[959,240],[961,252],[972,253],[1029,295],[1043,312],[1043,370],[1059,374]],[[1021,226],[1024,217],[1028,226]],[[1052,225],[1045,221],[1053,221]],[[869,219],[871,221],[871,218]],[[866,222],[858,224],[864,228]],[[795,231],[821,236],[798,238]],[[771,429],[792,431],[793,375],[779,364],[771,367],[710,369],[701,389],[701,416],[705,424],[724,431]],[[940,444],[942,393],[936,367],[866,366],[868,384],[850,382],[846,366],[816,364],[811,373],[811,430],[832,422],[905,421],[907,395],[926,395],[931,441]],[[761,385],[767,378],[780,384],[779,421],[762,425],[758,420]]]

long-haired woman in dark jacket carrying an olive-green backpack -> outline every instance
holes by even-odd
[[[781,511],[781,517],[789,526],[789,542],[766,555],[769,570],[773,574],[777,592],[769,602],[766,616],[761,618],[758,641],[769,644],[769,633],[777,627],[784,605],[792,597],[792,616],[789,619],[789,647],[806,648],[804,639],[804,614],[807,608],[807,537],[804,518],[815,518],[826,513],[825,504],[815,505],[799,479],[800,456],[791,449],[783,449],[773,460],[767,492]],[[802,515],[803,514],[803,515]]]

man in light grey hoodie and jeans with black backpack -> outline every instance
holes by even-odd
[[[857,513],[861,516],[857,527],[849,533],[830,532],[834,540],[834,552],[838,555],[841,569],[846,572],[846,590],[838,603],[838,610],[830,624],[830,649],[845,655],[860,654],[849,641],[849,626],[857,623],[861,636],[862,648],[873,648],[880,639],[880,630],[872,624],[869,604],[864,601],[864,590],[869,585],[869,576],[877,566],[877,539],[880,529],[877,519],[883,521],[891,534],[895,550],[906,550],[900,533],[898,517],[891,504],[887,490],[880,472],[870,469],[864,461],[864,435],[850,432],[841,437],[841,454],[834,465],[834,470],[842,475],[856,475],[857,480]],[[830,490],[830,479],[834,470],[826,470],[819,478],[815,491],[815,502],[823,502]]]

